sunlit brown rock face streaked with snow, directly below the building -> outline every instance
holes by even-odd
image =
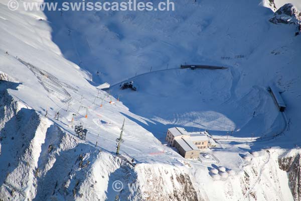
[[[135,169],[142,200],[204,200],[198,196],[190,176],[179,168],[142,164]]]

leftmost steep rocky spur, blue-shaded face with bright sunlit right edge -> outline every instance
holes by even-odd
[[[3,101],[9,98],[3,98]],[[8,104],[2,102],[2,104]],[[9,104],[14,106],[15,104]],[[35,111],[21,109],[19,112],[14,107],[7,109],[14,111],[15,116],[11,116],[1,130],[1,195],[3,192],[14,194],[14,191],[22,192],[19,196],[32,199],[35,196],[34,172],[38,166],[40,147],[44,140],[44,135],[50,124],[43,117],[39,117]],[[7,113],[5,116],[10,115]],[[21,197],[19,197],[21,199]]]

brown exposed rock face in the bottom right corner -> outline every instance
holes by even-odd
[[[296,154],[278,159],[280,169],[288,173],[289,188],[295,201],[301,200],[301,157]]]

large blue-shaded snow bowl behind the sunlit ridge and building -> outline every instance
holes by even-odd
[[[273,12],[259,3],[181,1],[174,13],[64,12],[61,16],[46,12],[46,16],[52,22],[54,42],[66,58],[90,71],[96,83],[113,84],[150,70],[178,68],[181,63],[230,67],[223,72],[146,74],[134,79],[139,93],[120,92],[119,85],[112,90],[133,113],[159,120],[158,124],[239,130],[240,136],[250,135],[249,127],[257,124],[253,133],[261,136],[283,128],[282,117],[265,91],[270,83],[279,81],[281,90],[286,87],[283,96],[289,97],[285,98],[300,98],[293,88],[300,81],[300,37],[294,37],[295,25],[268,22]],[[193,123],[196,120],[199,125]],[[154,127],[152,132],[166,131],[164,126]]]

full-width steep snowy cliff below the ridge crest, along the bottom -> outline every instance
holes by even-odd
[[[3,200],[292,200],[288,185],[284,185],[285,171],[295,172],[289,161],[299,160],[298,155],[296,160],[292,158],[299,151],[261,151],[242,172],[229,172],[221,181],[213,180],[207,168],[193,168],[197,164],[188,162],[184,167],[143,163],[133,169],[118,157],[50,126],[47,118],[39,118],[33,110],[16,107],[18,103],[8,94],[3,95],[4,103],[8,103],[8,112],[4,114],[7,123],[2,129],[0,159],[1,164],[9,165],[1,170]],[[17,114],[10,118],[12,111]],[[25,114],[30,119],[25,119]],[[280,168],[285,171],[278,166],[279,155]],[[298,182],[298,174],[296,177]],[[130,183],[133,189],[138,186],[138,190],[125,188],[116,193],[110,187],[115,180]],[[299,195],[295,196],[298,200]]]

